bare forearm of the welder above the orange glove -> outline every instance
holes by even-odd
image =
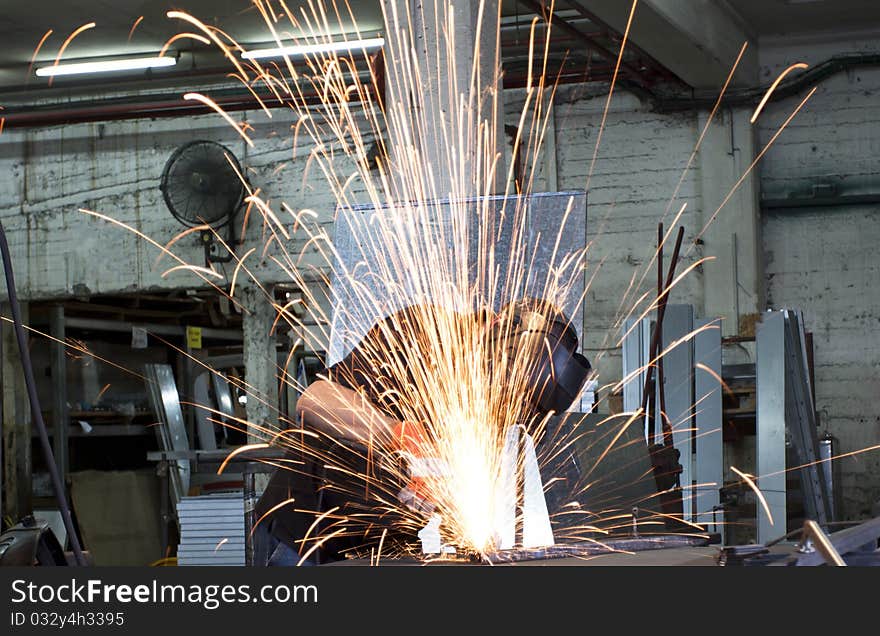
[[[391,439],[398,423],[356,391],[327,380],[306,388],[296,401],[296,412],[304,426],[360,444],[377,437]]]

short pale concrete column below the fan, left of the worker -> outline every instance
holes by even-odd
[[[266,291],[272,293],[271,286]],[[278,428],[278,366],[275,336],[270,335],[275,320],[275,309],[266,295],[256,286],[241,290],[243,315],[244,381],[248,385],[245,407],[248,422],[248,442],[266,441],[265,432],[257,427]]]

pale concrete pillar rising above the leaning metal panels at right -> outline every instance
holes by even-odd
[[[758,153],[750,116],[747,109],[719,112],[699,156],[703,225],[711,219],[702,236],[703,254],[715,257],[703,267],[703,315],[723,319],[723,336],[751,331],[755,314],[764,306],[756,171],[715,214]],[[708,113],[700,115],[700,130],[707,117]]]

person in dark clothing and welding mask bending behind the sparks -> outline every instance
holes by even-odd
[[[452,320],[476,321],[477,328],[472,333],[489,338],[495,337],[499,329],[509,328],[516,337],[507,338],[507,343],[517,343],[524,350],[534,352],[529,381],[536,390],[530,395],[518,396],[528,403],[526,413],[543,416],[551,411],[562,412],[580,396],[590,364],[576,352],[578,338],[570,321],[549,303],[520,300],[509,303],[497,315],[487,311],[450,314],[436,306],[418,306],[376,323],[345,359],[329,368],[323,379],[306,388],[296,407],[302,426],[326,436],[328,453],[333,453],[330,440],[365,449],[371,439],[379,438],[386,442],[382,445],[385,448],[394,444],[403,448],[408,443],[412,448],[413,441],[424,438],[425,433],[418,423],[405,421],[400,396],[411,393],[415,383],[400,377],[404,375],[400,369],[406,368],[407,360],[424,359],[430,364],[428,350],[432,345],[429,343],[436,346],[442,339],[438,340],[439,333],[426,333],[425,326],[435,325],[439,330],[452,325]],[[471,333],[467,326],[461,332]],[[539,341],[526,342],[529,338]],[[396,366],[398,372],[383,372],[383,364],[377,364],[379,356],[384,357],[384,365]],[[366,453],[344,455],[347,461],[358,464],[347,467],[352,472],[363,473],[368,469],[363,459]],[[278,469],[273,474],[256,507],[260,523],[255,529],[255,563],[296,565],[300,555],[308,550],[301,541],[303,537],[329,534],[328,528],[336,527],[336,517],[370,509],[366,494],[363,497],[357,494],[364,491],[364,484],[350,483],[354,478],[336,475],[337,483],[331,483],[325,474],[325,462],[318,461],[319,456],[320,452],[310,452],[308,456],[291,453],[291,460],[303,463],[293,464],[290,469]],[[334,456],[338,457],[339,453]],[[340,484],[339,479],[349,483]],[[402,488],[398,498],[414,510],[426,513],[431,510],[430,502],[421,499],[418,489]],[[321,527],[313,527],[322,512],[337,507],[338,516],[328,515]],[[344,558],[344,553],[357,543],[355,537],[336,537],[323,543],[303,563]]]

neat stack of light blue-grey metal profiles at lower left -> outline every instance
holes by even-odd
[[[244,565],[244,499],[241,492],[183,497],[178,565]]]

